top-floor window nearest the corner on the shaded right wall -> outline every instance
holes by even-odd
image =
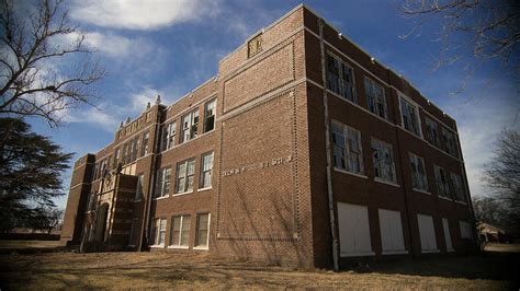
[[[354,71],[349,65],[331,55],[327,56],[327,89],[358,103],[354,86]]]

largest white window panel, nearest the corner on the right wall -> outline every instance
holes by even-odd
[[[338,203],[338,228],[342,257],[374,255],[366,207]]]

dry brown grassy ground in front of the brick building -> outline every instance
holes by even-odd
[[[377,263],[335,273],[170,252],[14,252],[0,255],[0,288],[518,290],[519,258],[518,253],[485,252],[470,257]]]

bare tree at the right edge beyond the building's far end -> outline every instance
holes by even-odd
[[[504,130],[484,181],[504,212],[504,226],[520,232],[520,132]]]

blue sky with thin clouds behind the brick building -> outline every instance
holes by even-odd
[[[82,106],[65,114],[66,125],[48,128],[32,120],[33,129],[49,136],[74,160],[97,152],[113,139],[120,121],[136,117],[160,94],[170,104],[217,72],[218,60],[244,40],[281,18],[298,1],[257,0],[83,0],[69,1],[72,22],[87,35],[108,77],[95,88],[101,110]],[[440,51],[439,23],[423,26],[409,39],[399,38],[415,25],[398,11],[397,0],[306,1],[343,35],[402,73],[425,96],[457,120],[472,195],[485,193],[479,175],[491,156],[502,128],[519,128],[518,81],[485,63],[468,79],[466,63],[433,70]],[[493,81],[491,81],[493,80]],[[491,82],[490,82],[491,81]],[[490,85],[488,84],[490,83]],[[74,161],[72,161],[74,163]],[[70,181],[70,171],[64,176]],[[65,207],[67,197],[57,199]]]

